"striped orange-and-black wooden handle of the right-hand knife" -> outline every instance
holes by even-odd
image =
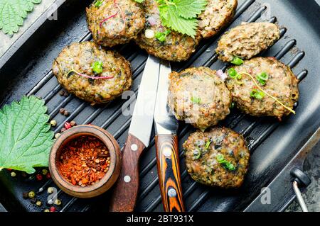
[[[178,137],[176,135],[157,135],[156,157],[164,210],[166,212],[184,212],[178,159]]]

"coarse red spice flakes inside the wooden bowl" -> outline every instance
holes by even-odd
[[[110,153],[97,137],[81,136],[68,142],[58,159],[58,170],[66,181],[76,186],[90,186],[107,173]]]

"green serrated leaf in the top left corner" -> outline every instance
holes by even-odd
[[[23,18],[33,10],[34,4],[41,0],[0,0],[0,29],[10,36],[18,32]]]

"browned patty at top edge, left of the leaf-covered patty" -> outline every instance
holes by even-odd
[[[93,39],[112,47],[128,43],[144,28],[146,19],[142,4],[134,0],[94,1],[87,8],[87,25]]]

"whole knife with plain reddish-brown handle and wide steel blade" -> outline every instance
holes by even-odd
[[[110,203],[112,212],[132,212],[137,201],[139,157],[142,151],[149,146],[154,122],[159,67],[159,60],[149,55],[134,105],[127,142],[122,151],[122,171],[114,186]]]

